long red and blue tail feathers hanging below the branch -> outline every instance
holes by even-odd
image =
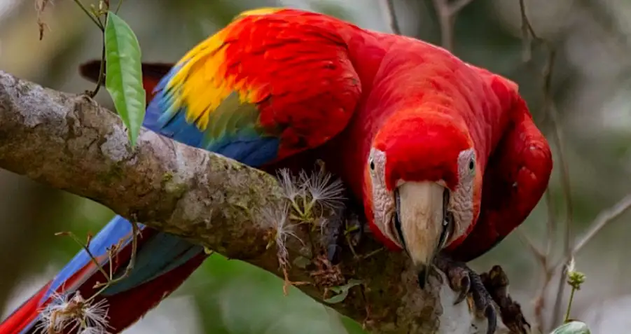
[[[85,333],[120,333],[178,288],[207,258],[202,246],[137,225],[135,262],[127,274],[133,229],[129,221],[116,216],[90,241],[92,256],[85,249],[77,253],[53,280],[0,323],[0,334],[80,333],[79,326],[95,330]],[[111,284],[95,286],[107,281]]]

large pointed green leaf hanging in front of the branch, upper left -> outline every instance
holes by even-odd
[[[105,87],[129,131],[133,147],[146,109],[140,45],[132,28],[111,11],[107,12],[105,25],[105,59]]]

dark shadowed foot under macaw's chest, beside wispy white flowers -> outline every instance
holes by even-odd
[[[366,231],[366,223],[361,220],[361,215],[354,207],[345,204],[335,209],[328,218],[324,234],[326,236],[326,258],[337,264],[341,260],[342,244],[348,244],[353,255],[357,257],[354,247],[359,245]]]

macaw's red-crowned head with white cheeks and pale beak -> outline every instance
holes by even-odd
[[[388,246],[407,251],[422,288],[436,253],[462,242],[475,224],[478,166],[466,128],[443,113],[396,113],[373,139],[366,216]]]

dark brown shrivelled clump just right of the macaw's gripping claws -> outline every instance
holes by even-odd
[[[499,265],[494,265],[488,273],[481,274],[480,278],[499,306],[499,314],[504,325],[511,330],[511,333],[528,333],[530,323],[526,321],[519,303],[508,295],[508,276],[504,270]]]

